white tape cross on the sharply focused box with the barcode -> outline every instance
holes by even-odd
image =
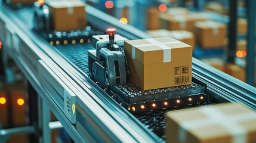
[[[143,46],[158,46],[159,48],[162,48],[164,50],[164,63],[171,62],[171,48],[169,46],[166,46],[166,44],[171,44],[171,43],[181,43],[181,41],[172,41],[172,42],[159,42],[156,41],[155,39],[144,39],[150,43],[147,44],[141,44],[141,45],[134,45],[132,46],[132,58],[135,60],[136,57],[136,48],[138,47],[143,47]]]

